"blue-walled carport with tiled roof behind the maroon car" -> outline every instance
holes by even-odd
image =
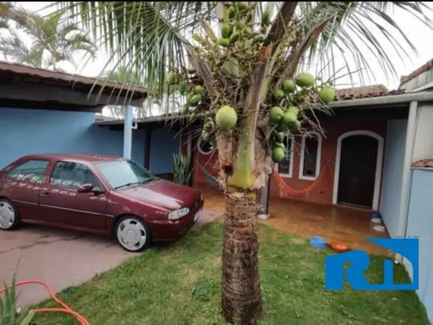
[[[122,156],[124,132],[98,127],[95,113],[105,105],[140,106],[146,96],[143,87],[0,61],[0,168],[41,152]],[[141,164],[148,159],[157,173],[171,172],[174,135],[157,131],[154,148],[159,141],[165,146],[146,158],[150,138],[144,129],[134,130],[132,158]]]

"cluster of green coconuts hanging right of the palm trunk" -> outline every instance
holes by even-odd
[[[301,105],[305,100],[314,94],[323,104],[328,104],[334,99],[334,88],[326,83],[318,86],[318,81],[320,79],[311,73],[302,72],[294,80],[285,79],[281,88],[274,91],[274,98],[271,100],[278,105],[272,106],[268,116],[269,127],[272,129],[270,140],[274,162],[282,161],[286,155],[284,137],[289,132],[299,132]]]

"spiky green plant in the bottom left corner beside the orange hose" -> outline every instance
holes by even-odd
[[[0,296],[0,325],[30,325],[36,310],[25,308],[17,312],[17,281],[14,275],[11,287],[4,283],[4,298]]]

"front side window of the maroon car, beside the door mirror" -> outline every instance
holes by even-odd
[[[102,188],[88,166],[71,161],[56,162],[50,183],[74,189],[83,184],[92,184],[94,187]]]

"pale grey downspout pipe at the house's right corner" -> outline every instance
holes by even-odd
[[[409,193],[412,179],[412,154],[415,142],[415,133],[417,128],[418,102],[411,101],[409,105],[409,116],[407,117],[406,143],[404,145],[404,162],[403,162],[403,179],[401,182],[400,192],[400,209],[398,215],[398,237],[405,238],[407,230],[408,210],[409,210]],[[399,263],[403,261],[401,254],[395,255],[395,260]]]

